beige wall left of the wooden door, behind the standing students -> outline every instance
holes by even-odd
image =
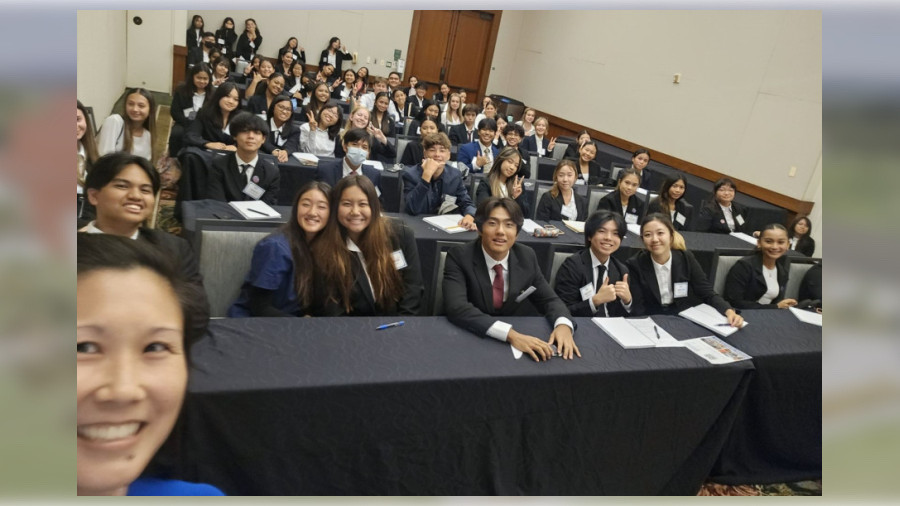
[[[231,16],[238,35],[244,30],[244,20],[252,17],[263,35],[260,54],[278,56],[288,38],[297,37],[306,50],[307,62],[313,65],[328,40],[340,37],[350,53],[358,53],[357,63],[345,62],[344,68],[350,63],[349,68],[367,67],[369,75],[387,76],[396,69],[385,67],[381,60],[393,61],[394,49],[407,58],[413,11],[188,11],[182,34],[194,14],[203,16],[206,28],[213,32]],[[366,63],[366,57],[371,57],[372,63]]]

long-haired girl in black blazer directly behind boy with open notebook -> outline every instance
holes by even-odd
[[[185,146],[235,151],[230,123],[240,112],[241,99],[234,83],[216,88],[212,98],[203,104],[197,119],[188,127],[184,136]]]

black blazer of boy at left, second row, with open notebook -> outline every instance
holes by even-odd
[[[281,182],[281,174],[278,165],[265,155],[260,155],[253,169],[253,179],[256,185],[266,192],[259,200],[274,206],[278,197],[278,185]],[[247,186],[247,178],[238,172],[237,159],[234,153],[219,155],[213,158],[209,173],[209,198],[222,202],[234,200],[253,200],[243,190]]]

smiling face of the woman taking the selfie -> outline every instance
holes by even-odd
[[[187,387],[177,300],[145,268],[78,277],[79,495],[124,495],[172,431]]]

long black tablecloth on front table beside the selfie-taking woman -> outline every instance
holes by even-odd
[[[440,317],[214,320],[157,460],[229,495],[695,494],[752,364],[624,350],[575,320],[583,358],[546,363]]]

